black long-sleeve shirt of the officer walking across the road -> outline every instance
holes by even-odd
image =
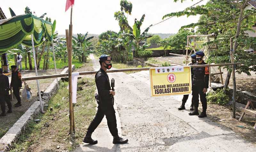
[[[100,108],[105,112],[114,112],[113,102],[109,90],[111,90],[108,74],[100,68],[100,70],[95,75],[95,83],[98,89],[98,94],[100,96]]]

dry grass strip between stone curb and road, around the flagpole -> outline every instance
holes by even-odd
[[[96,113],[94,99],[95,82],[92,78],[78,80],[77,86],[82,86],[82,91],[77,91],[77,103],[74,105],[76,134],[68,135],[68,82],[61,82],[58,93],[48,103],[45,114],[38,114],[35,119],[41,119],[36,123],[28,123],[26,131],[21,135],[19,142],[14,144],[15,151],[72,151],[76,149],[86,133],[89,123]],[[64,97],[64,99],[63,99]],[[63,100],[62,100],[63,99]],[[53,107],[53,111],[49,111]],[[49,127],[45,126],[49,124]],[[72,143],[70,143],[72,142]],[[60,149],[57,149],[60,146]],[[41,149],[42,148],[42,149]]]

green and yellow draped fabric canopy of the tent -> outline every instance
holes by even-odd
[[[32,14],[25,14],[12,17],[0,24],[0,54],[20,43],[32,46],[31,34],[33,34],[35,46],[41,45],[44,42],[43,38],[52,41],[52,23]]]

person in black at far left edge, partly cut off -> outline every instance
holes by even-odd
[[[0,116],[6,116],[5,102],[8,106],[7,113],[12,113],[12,103],[10,101],[9,89],[9,79],[6,75],[3,74],[3,69],[0,68],[0,105],[2,110],[2,114],[0,114]]]

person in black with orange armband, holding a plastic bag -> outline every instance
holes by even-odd
[[[17,71],[17,66],[11,66],[12,68],[12,79],[10,86],[12,87],[13,93],[17,99],[17,103],[15,103],[15,107],[21,106],[20,99],[20,88],[21,88],[21,74]]]

